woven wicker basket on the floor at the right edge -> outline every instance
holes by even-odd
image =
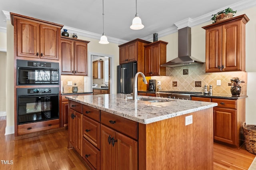
[[[256,154],[256,125],[246,125],[244,122],[243,133],[246,150]]]

